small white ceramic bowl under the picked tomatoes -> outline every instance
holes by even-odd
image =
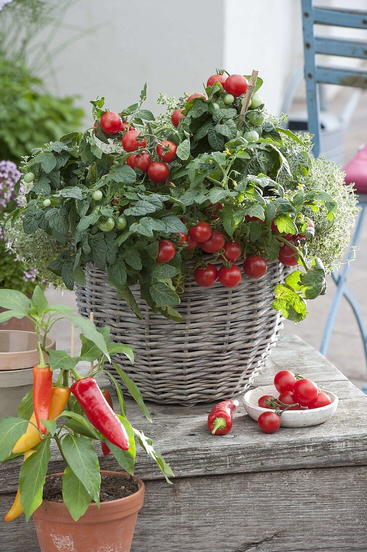
[[[280,416],[281,427],[308,427],[317,426],[319,423],[324,423],[330,420],[333,413],[337,410],[339,399],[331,391],[325,391],[320,389],[323,393],[326,393],[331,399],[331,403],[327,406],[321,406],[321,408],[312,408],[308,410],[287,410]],[[269,412],[269,408],[262,408],[258,406],[257,401],[263,395],[273,395],[278,397],[279,392],[276,391],[274,385],[263,385],[256,389],[247,391],[243,397],[242,402],[244,409],[248,413],[249,417],[253,420],[258,419],[263,412]]]

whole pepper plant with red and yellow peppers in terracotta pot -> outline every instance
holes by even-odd
[[[23,511],[28,521],[40,506],[47,466],[55,452],[52,442],[65,463],[63,501],[75,520],[86,512],[92,501],[99,505],[101,476],[95,442],[102,444],[104,455],[113,454],[124,471],[134,474],[137,439],[170,483],[171,468],[155,450],[152,440],[127,420],[123,389],[105,367],[105,362],[115,353],[123,353],[134,362],[131,348],[111,341],[109,328],[97,330],[92,321],[73,314],[71,307],[50,306],[39,286],[31,299],[19,291],[0,290],[0,306],[6,309],[0,314],[0,322],[24,316],[31,321],[39,337],[40,352],[40,363],[33,369],[33,390],[20,402],[18,417],[7,416],[0,420],[0,461],[14,461],[19,454],[24,454],[19,489],[6,521],[12,521]],[[71,357],[64,351],[46,351],[47,333],[62,319],[82,329],[82,348],[78,356]],[[47,362],[46,354],[49,355]],[[77,367],[83,360],[91,363],[91,369],[81,376]],[[129,394],[151,422],[134,381],[118,364],[112,363]],[[108,391],[99,389],[95,380],[98,374],[105,374],[111,380],[121,414],[111,408]]]

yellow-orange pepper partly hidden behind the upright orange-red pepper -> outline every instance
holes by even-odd
[[[60,416],[61,412],[67,405],[67,401],[70,397],[70,389],[68,387],[53,387],[51,391],[50,402],[50,420],[55,420],[57,416]],[[12,453],[19,454],[25,452],[33,447],[36,447],[41,442],[41,436],[37,429],[37,421],[35,413],[29,418],[29,424],[26,432],[15,443]]]

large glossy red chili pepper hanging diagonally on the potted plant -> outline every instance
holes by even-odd
[[[126,430],[102,395],[97,381],[88,376],[77,380],[70,389],[89,422],[116,447],[128,450],[130,445]]]

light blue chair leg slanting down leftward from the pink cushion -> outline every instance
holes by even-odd
[[[361,212],[358,216],[357,225],[355,227],[355,232],[354,232],[351,248],[353,246],[357,246],[357,244],[358,244],[359,237],[360,237],[360,232],[361,232],[362,225],[363,225],[363,219],[364,219],[365,208],[366,207],[367,207],[367,204],[361,204],[362,210],[361,210]],[[351,265],[350,261],[352,260],[352,258],[353,258],[353,252],[349,251],[348,257],[347,257],[347,264],[344,265],[344,268],[343,268],[342,272],[339,274],[337,272],[337,270],[334,270],[334,272],[332,274],[333,280],[337,284],[337,290],[336,290],[336,294],[335,294],[334,299],[333,299],[333,304],[331,306],[329,315],[327,317],[325,330],[324,330],[324,333],[323,333],[323,336],[322,336],[320,352],[323,355],[326,355],[326,353],[327,353],[327,349],[328,349],[329,341],[330,341],[330,337],[331,337],[331,332],[332,332],[332,329],[333,329],[333,326],[334,326],[334,321],[335,321],[335,318],[336,318],[336,315],[337,315],[337,312],[338,312],[339,304],[340,304],[340,302],[342,300],[342,297],[344,295],[345,281],[347,280],[347,276],[348,276],[348,273],[349,273],[349,270],[350,270],[350,265]]]

